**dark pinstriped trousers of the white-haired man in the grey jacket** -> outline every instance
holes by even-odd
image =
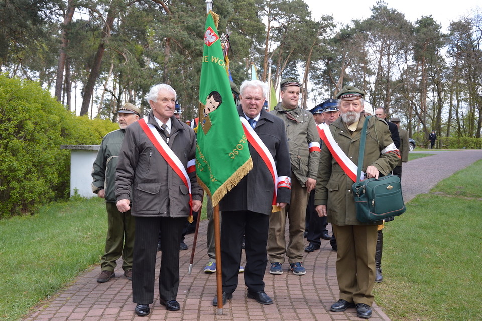
[[[185,222],[186,218],[136,217],[132,266],[132,301],[134,303],[154,302],[156,248],[159,235],[162,251],[159,296],[163,300],[176,299],[179,288],[179,243],[181,243],[181,232]]]

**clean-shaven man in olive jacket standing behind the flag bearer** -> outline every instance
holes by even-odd
[[[268,256],[271,274],[282,274],[281,264],[288,257],[295,275],[306,274],[303,267],[306,206],[315,188],[320,160],[320,137],[313,115],[298,106],[300,83],[294,78],[281,81],[281,102],[270,113],[285,123],[291,159],[291,203],[270,215]],[[289,219],[290,240],[285,241],[286,218]]]

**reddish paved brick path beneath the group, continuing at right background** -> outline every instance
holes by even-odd
[[[426,193],[439,180],[450,176],[478,159],[482,151],[435,151],[436,155],[416,159],[403,165],[404,197],[409,201],[419,193]],[[330,228],[331,225],[328,225]],[[116,277],[106,283],[95,281],[100,267],[82,273],[77,280],[56,296],[37,307],[25,321],[114,321],[114,320],[282,320],[282,321],[325,321],[357,320],[354,308],[344,313],[329,311],[330,305],[338,300],[338,284],[335,274],[336,252],[331,251],[329,241],[322,241],[320,251],[305,253],[304,265],[307,273],[295,276],[283,266],[282,275],[265,274],[266,293],[274,300],[273,305],[260,305],[246,298],[243,274],[240,274],[239,287],[233,299],[223,307],[223,314],[217,315],[217,308],[211,305],[216,293],[215,274],[202,272],[208,258],[206,254],[207,221],[200,224],[200,237],[197,242],[197,254],[192,274],[188,275],[191,251],[181,251],[181,282],[178,301],[181,310],[168,312],[159,304],[159,297],[154,297],[152,313],[144,318],[134,314],[131,283],[117,268]],[[330,231],[331,233],[331,231]],[[191,247],[193,234],[186,236],[186,244]],[[160,259],[158,260],[158,265]],[[244,263],[244,262],[243,262]],[[118,266],[120,266],[119,264]],[[159,268],[159,266],[158,266]],[[157,281],[156,281],[157,284]],[[157,289],[157,285],[155,287]],[[375,298],[376,299],[376,298]],[[373,306],[372,321],[390,319],[376,305]]]

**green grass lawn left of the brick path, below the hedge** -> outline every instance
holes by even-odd
[[[81,271],[98,263],[107,219],[100,198],[44,206],[0,221],[0,320],[18,320]]]

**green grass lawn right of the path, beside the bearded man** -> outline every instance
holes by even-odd
[[[474,174],[476,173],[476,174]],[[384,229],[377,304],[393,320],[482,320],[482,161],[419,195]]]

